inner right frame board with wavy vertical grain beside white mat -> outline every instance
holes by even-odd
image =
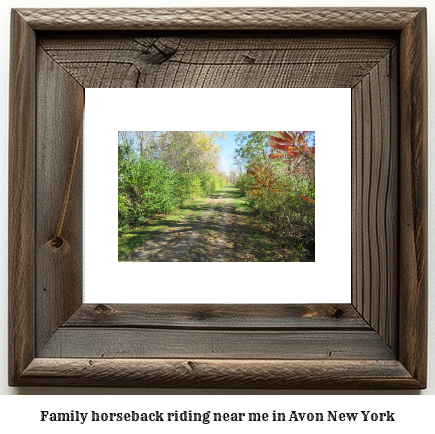
[[[354,305],[397,349],[398,111],[393,48],[352,89]],[[394,103],[394,104],[392,104]]]

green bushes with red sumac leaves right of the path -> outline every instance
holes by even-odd
[[[272,146],[265,150],[260,133],[246,132],[240,138],[236,157],[244,161],[247,171],[238,177],[237,187],[253,216],[271,224],[277,238],[305,252],[306,260],[313,260],[314,148],[308,146],[305,132],[278,132],[267,141]],[[296,139],[301,142],[298,146]]]

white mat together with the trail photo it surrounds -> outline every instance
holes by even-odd
[[[85,303],[350,303],[350,89],[97,88],[86,89],[85,99],[84,233],[103,235],[98,243],[84,237]],[[280,125],[317,143],[308,147],[307,161],[289,167],[284,156],[271,153],[268,137]],[[198,148],[199,140],[207,147]],[[221,158],[213,159],[218,146]],[[245,166],[255,171],[255,185]],[[264,188],[263,169],[271,175]],[[235,184],[218,184],[231,172]],[[211,179],[217,188],[209,197],[195,193]],[[297,182],[315,203],[291,193]],[[137,185],[146,186],[143,193]],[[331,185],[340,185],[334,213]],[[196,198],[155,216],[153,210],[174,206],[186,189],[195,189],[189,194]],[[273,230],[251,211],[256,206],[267,215],[273,209],[267,220]],[[334,286],[325,291],[324,281]],[[149,291],[150,285],[161,290]]]

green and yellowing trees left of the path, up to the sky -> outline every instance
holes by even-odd
[[[225,183],[219,174],[222,134],[118,132],[118,227],[146,224]]]

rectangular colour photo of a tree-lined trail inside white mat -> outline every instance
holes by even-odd
[[[119,131],[119,262],[314,262],[314,131]]]

